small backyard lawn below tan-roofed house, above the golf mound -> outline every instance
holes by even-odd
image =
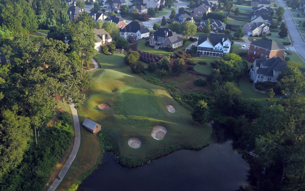
[[[98,52],[95,55],[97,61],[102,66],[116,66],[116,65],[125,65],[124,57],[127,55],[126,51],[124,54],[114,52],[112,55],[106,55],[104,53]]]

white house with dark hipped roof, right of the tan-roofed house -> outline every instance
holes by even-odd
[[[132,21],[127,24],[125,28],[120,30],[120,37],[131,42],[138,41],[145,37],[149,37],[149,29],[146,28],[142,22]]]

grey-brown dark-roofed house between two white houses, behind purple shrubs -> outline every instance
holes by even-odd
[[[172,48],[181,46],[183,39],[177,35],[176,32],[171,31],[168,28],[160,28],[151,35],[149,40],[150,45],[154,45],[156,49],[159,47],[167,47],[170,45]]]

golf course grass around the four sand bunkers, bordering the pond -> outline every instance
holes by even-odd
[[[131,73],[129,67],[97,69],[92,77],[93,85],[85,92],[88,98],[78,109],[80,122],[90,118],[101,124],[117,141],[122,155],[137,158],[170,145],[202,147],[209,143],[208,126],[198,126],[192,121],[191,111],[179,105],[165,88],[148,83]],[[126,93],[133,95],[126,97]],[[145,99],[141,100],[143,96]],[[136,101],[136,106],[132,105]],[[98,108],[101,103],[109,103],[112,107],[103,111]],[[174,105],[175,113],[166,110],[165,106],[168,104]],[[139,109],[141,110],[137,111]],[[162,141],[151,137],[152,127],[158,124],[167,128]],[[142,140],[139,149],[132,149],[127,144],[132,137]]]

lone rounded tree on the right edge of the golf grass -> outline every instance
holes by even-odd
[[[199,123],[200,125],[208,122],[209,111],[210,111],[209,107],[205,101],[203,100],[198,101],[191,114],[193,121]]]

